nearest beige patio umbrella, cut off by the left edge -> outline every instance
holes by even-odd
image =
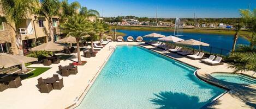
[[[34,61],[38,61],[37,58],[0,53],[0,68],[22,65],[22,71],[25,71],[25,63]]]

